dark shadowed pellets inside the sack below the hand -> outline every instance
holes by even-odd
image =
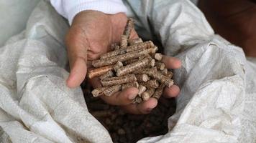
[[[168,118],[175,113],[175,99],[159,97],[159,91],[163,91],[159,89],[163,88],[163,84],[155,89],[153,96],[160,99],[150,114],[127,114],[120,107],[93,97],[92,89],[88,86],[85,83],[81,85],[88,111],[107,129],[114,143],[134,143],[145,137],[168,133]],[[145,91],[143,86],[139,89]],[[142,97],[136,99],[142,101]]]

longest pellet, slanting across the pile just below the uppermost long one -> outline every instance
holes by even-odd
[[[138,58],[138,57],[146,55],[146,54],[155,53],[156,50],[157,49],[155,49],[155,48],[139,49],[137,51],[132,51],[127,54],[121,54],[121,55],[109,57],[106,59],[98,59],[98,60],[92,61],[91,64],[94,67],[107,66],[107,65],[115,64],[117,61],[121,61],[121,62],[127,61],[129,59]]]

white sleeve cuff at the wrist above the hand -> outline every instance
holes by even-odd
[[[122,0],[50,0],[58,13],[72,24],[74,16],[84,10],[96,10],[105,14],[126,12]]]

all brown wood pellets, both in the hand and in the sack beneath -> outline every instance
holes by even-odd
[[[161,98],[163,88],[173,85],[173,73],[165,68],[163,55],[156,53],[158,48],[152,41],[129,39],[133,25],[128,19],[120,44],[112,44],[110,52],[92,62],[95,69],[88,71],[88,78],[99,77],[102,87],[91,89],[85,82],[81,85],[89,112],[106,127],[115,143],[166,134],[168,117],[175,113],[175,99]],[[157,107],[150,114],[127,114],[99,98],[129,87],[139,89],[134,104],[154,97]]]

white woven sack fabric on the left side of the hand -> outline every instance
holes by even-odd
[[[40,1],[27,28],[0,48],[1,142],[111,142],[81,88],[65,86],[66,21]]]

